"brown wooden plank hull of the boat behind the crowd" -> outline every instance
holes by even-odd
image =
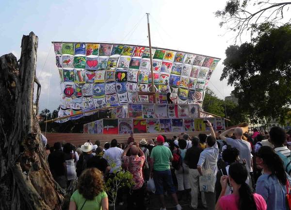
[[[190,136],[198,136],[199,133],[209,132],[187,132]],[[45,133],[43,133],[45,135]],[[133,135],[133,138],[136,141],[140,141],[142,138],[147,139],[155,139],[158,135],[165,135],[167,138],[172,139],[173,136],[178,136],[180,133],[177,132],[167,132],[167,133],[136,133]],[[55,142],[66,141],[75,146],[83,145],[87,140],[91,140],[94,143],[96,140],[101,142],[103,146],[106,142],[111,142],[113,139],[117,139],[119,143],[126,143],[130,135],[116,135],[116,134],[86,134],[86,133],[49,133],[47,132],[46,137],[48,139],[48,143],[52,146]]]

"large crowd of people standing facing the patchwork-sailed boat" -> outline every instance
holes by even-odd
[[[291,132],[273,127],[269,133],[254,129],[252,135],[242,128],[215,133],[211,123],[205,123],[210,135],[181,133],[172,139],[159,135],[136,141],[131,134],[127,144],[113,139],[104,148],[100,141],[78,148],[65,142],[47,145],[50,171],[62,188],[78,178],[69,210],[108,210],[113,204],[104,183],[120,171],[129,171],[134,182],[117,192],[116,204],[124,205],[127,199],[128,210],[146,210],[148,191],[157,195],[161,210],[166,210],[165,194],[177,210],[182,209],[181,200],[191,209],[289,208]]]

